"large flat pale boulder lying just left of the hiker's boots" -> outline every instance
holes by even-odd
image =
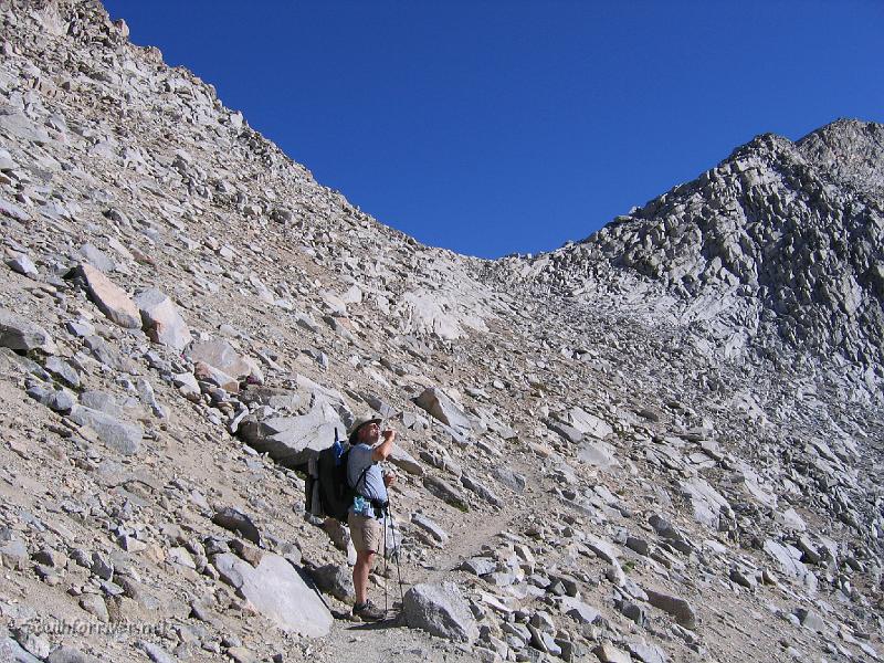
[[[213,564],[224,582],[283,631],[307,638],[328,635],[332,613],[284,557],[265,552],[257,567],[253,567],[224,552]]]

